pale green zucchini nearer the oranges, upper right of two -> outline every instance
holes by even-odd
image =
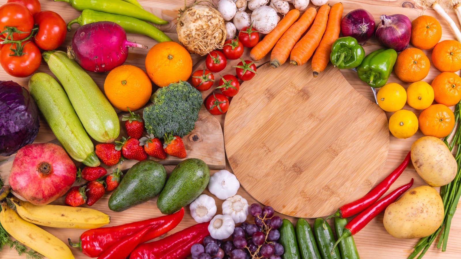
[[[62,51],[41,54],[61,82],[88,134],[98,142],[110,143],[120,133],[117,113],[95,81]]]

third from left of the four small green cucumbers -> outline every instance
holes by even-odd
[[[338,247],[335,247],[331,253],[331,248],[333,248],[336,240],[328,222],[325,222],[325,225],[326,230],[323,228],[323,218],[317,218],[314,221],[315,241],[319,246],[320,255],[322,259],[341,259]]]

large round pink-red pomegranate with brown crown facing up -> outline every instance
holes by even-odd
[[[77,167],[64,148],[52,143],[30,144],[16,154],[9,183],[30,203],[45,205],[64,195],[76,176]]]

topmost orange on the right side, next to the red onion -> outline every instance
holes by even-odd
[[[421,15],[411,22],[411,44],[420,49],[434,47],[442,38],[442,27],[436,18]]]

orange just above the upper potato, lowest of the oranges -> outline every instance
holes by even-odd
[[[418,121],[424,135],[436,138],[448,136],[455,127],[455,115],[443,104],[433,104],[423,110]]]

